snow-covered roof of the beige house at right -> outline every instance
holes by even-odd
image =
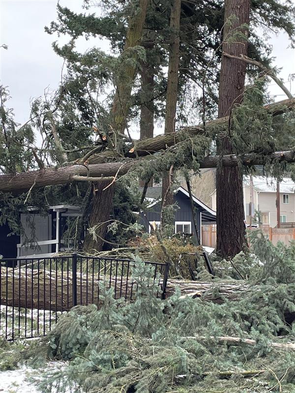
[[[243,176],[244,183],[250,186],[250,176]],[[276,193],[276,179],[266,176],[253,176],[253,188],[261,193]],[[295,182],[290,177],[284,177],[280,182],[281,194],[293,194]]]

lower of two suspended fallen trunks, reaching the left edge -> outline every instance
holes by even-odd
[[[141,161],[126,163],[105,163],[91,165],[70,165],[57,169],[34,170],[16,175],[0,176],[0,192],[24,192],[30,188],[39,188],[56,184],[71,183],[75,176],[83,176],[85,180],[91,181],[91,177],[118,176],[135,169]],[[245,166],[262,165],[266,162],[293,163],[295,162],[295,151],[276,151],[267,156],[257,157],[256,154],[243,154],[236,156],[229,154],[225,156],[207,156],[200,163],[200,168],[216,168],[218,165],[225,167],[236,167],[239,163]]]

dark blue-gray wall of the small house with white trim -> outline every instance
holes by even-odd
[[[181,193],[177,193],[174,196],[174,202],[177,202],[179,209],[175,212],[175,222],[176,221],[185,221],[191,223],[192,233],[195,232],[194,223],[193,223],[193,215],[190,207],[189,198],[183,196]],[[199,238],[201,236],[200,232],[200,210],[197,209],[197,227],[199,232]],[[161,202],[156,203],[152,206],[148,212],[140,213],[140,224],[144,225],[146,231],[149,231],[149,222],[151,221],[161,221]],[[195,236],[194,236],[195,237]]]

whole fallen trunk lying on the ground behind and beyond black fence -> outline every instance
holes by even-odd
[[[47,263],[48,265],[48,263]],[[73,301],[73,275],[69,270],[61,271],[56,269],[56,265],[38,266],[31,263],[21,268],[1,267],[0,270],[0,304],[28,309],[46,310],[68,310],[74,306]],[[115,266],[115,264],[113,264]],[[113,266],[113,269],[115,268]],[[126,265],[127,266],[127,265]],[[42,268],[43,267],[43,268]],[[91,267],[91,266],[90,266]],[[115,297],[124,297],[127,300],[134,298],[136,284],[131,277],[126,278],[125,270],[117,270],[110,274],[110,266],[102,269],[102,272],[93,271],[87,273],[86,265],[77,272],[77,304],[101,303],[99,294],[99,281],[106,281],[108,287],[114,288]],[[99,279],[99,280],[98,280]],[[159,293],[161,295],[162,281],[159,283]],[[202,297],[205,301],[222,303],[224,298],[237,300],[242,293],[250,289],[250,285],[244,281],[186,281],[168,280],[166,296],[173,295],[179,287],[182,297]],[[257,288],[256,290],[259,290]],[[217,294],[217,295],[216,295]]]

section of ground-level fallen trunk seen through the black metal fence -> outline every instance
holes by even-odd
[[[0,305],[25,309],[44,309],[68,311],[75,302],[73,299],[72,272],[38,269],[37,267],[7,268],[0,271]],[[85,267],[84,267],[85,268]],[[108,271],[108,269],[106,269]],[[136,283],[118,271],[118,276],[99,275],[98,272],[77,272],[77,305],[102,303],[98,282],[105,281],[107,287],[114,288],[115,298],[125,297],[130,300],[135,296]],[[160,292],[159,288],[159,292]],[[160,295],[159,295],[160,296]]]

